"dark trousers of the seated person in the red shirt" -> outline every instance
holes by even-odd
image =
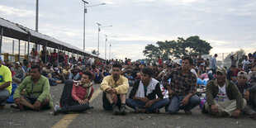
[[[60,97],[60,112],[62,113],[68,113],[69,111],[73,111],[73,112],[82,112],[82,111],[86,111],[90,108],[89,104],[83,104],[80,105],[77,101],[73,100],[72,97],[72,88],[73,88],[73,80],[67,80],[61,97]]]

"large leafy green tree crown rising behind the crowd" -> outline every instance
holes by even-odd
[[[190,36],[186,40],[178,37],[177,40],[165,40],[156,42],[157,45],[147,45],[143,51],[148,59],[157,59],[160,56],[168,60],[170,56],[181,58],[185,55],[209,55],[211,45],[199,36]]]

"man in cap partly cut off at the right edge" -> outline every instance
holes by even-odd
[[[244,71],[240,71],[237,75],[236,86],[239,92],[247,101],[244,113],[250,115],[256,120],[256,85],[247,83],[248,75]]]

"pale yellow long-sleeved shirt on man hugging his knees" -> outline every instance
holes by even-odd
[[[120,76],[117,82],[115,82],[112,75],[108,75],[103,78],[101,83],[102,91],[106,91],[107,88],[115,88],[117,94],[125,94],[128,91],[129,83],[128,79],[124,76]]]

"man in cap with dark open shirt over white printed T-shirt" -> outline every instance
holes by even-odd
[[[240,112],[246,107],[235,83],[231,83],[227,78],[225,68],[216,69],[216,79],[211,80],[206,85],[206,104],[204,112],[215,116],[238,117]]]

